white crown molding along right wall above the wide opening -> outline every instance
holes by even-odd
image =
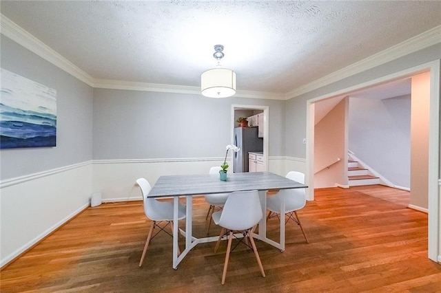
[[[373,67],[393,61],[397,58],[406,56],[413,52],[417,52],[437,43],[441,43],[441,25],[438,25],[431,30],[423,32],[422,34],[418,34],[417,36],[413,36],[407,41],[404,41],[397,45],[393,45],[392,47],[378,52],[377,54],[373,54],[372,56],[362,59],[361,61],[339,69],[336,72],[328,74],[327,76],[318,78],[312,83],[308,83],[307,85],[302,85],[297,89],[293,89],[292,91],[287,92],[285,98],[287,100],[290,98],[295,98],[296,96],[300,96],[301,94],[306,94],[307,92],[313,91],[314,89],[318,89],[320,87],[324,87],[325,85],[335,83],[336,81],[342,80],[343,78],[353,76],[354,74],[359,74],[360,72],[364,72]]]

